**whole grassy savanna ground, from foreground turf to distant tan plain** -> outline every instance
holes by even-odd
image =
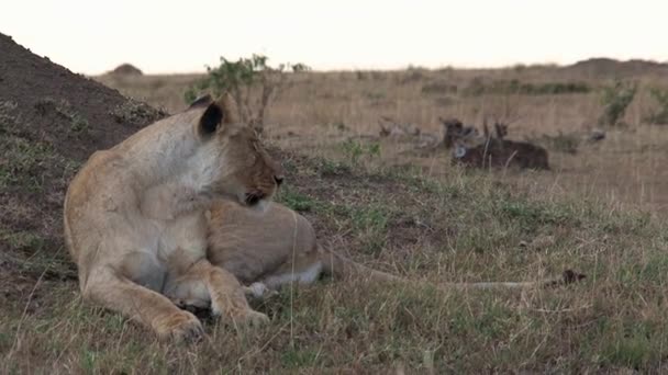
[[[62,240],[2,221],[0,271],[9,276],[0,279],[0,371],[665,372],[668,180],[661,167],[668,128],[644,124],[653,103],[641,89],[627,125],[584,143],[601,112],[598,88],[609,79],[590,70],[299,73],[270,107],[265,130],[288,171],[277,200],[307,216],[323,243],[357,261],[434,283],[533,280],[565,269],[586,273],[583,282],[539,291],[441,292],[324,281],[256,304],[271,317],[268,327],[240,330],[208,321],[205,340],[174,345],[82,303]],[[668,83],[661,75],[630,75],[643,84]],[[97,79],[176,112],[197,78]],[[512,79],[578,81],[591,90],[476,89]],[[57,182],[49,190],[55,207],[80,158],[69,156],[71,171],[54,174],[46,167],[62,166],[54,161],[60,156],[23,137],[18,129],[26,124],[10,110],[0,116],[3,192],[38,193],[51,179]],[[444,150],[423,152],[410,140],[376,138],[379,115],[434,134],[441,132],[438,116],[478,126],[485,116],[512,120],[509,138],[545,141],[553,170],[461,170]],[[64,133],[77,130],[73,118]],[[574,147],[576,154],[566,152]],[[19,208],[11,214],[20,215]]]

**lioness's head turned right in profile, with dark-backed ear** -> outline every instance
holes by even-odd
[[[218,101],[200,98],[190,106],[197,107],[205,107],[196,124],[202,143],[197,159],[210,175],[203,191],[242,205],[264,206],[283,181],[280,162],[269,156],[253,128],[236,121],[229,94]]]

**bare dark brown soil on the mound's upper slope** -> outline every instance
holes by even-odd
[[[32,140],[48,141],[67,157],[87,158],[91,151],[115,145],[165,115],[74,73],[47,57],[34,55],[2,34],[0,67],[0,101],[18,105],[15,114],[22,123],[18,129],[20,134]],[[141,106],[146,113],[142,115],[141,110],[136,110],[134,118],[123,118],[122,110],[134,106]],[[70,130],[70,118],[59,113],[67,110],[88,122],[85,135]]]

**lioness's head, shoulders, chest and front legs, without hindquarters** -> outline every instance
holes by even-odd
[[[234,275],[205,258],[210,202],[264,206],[283,178],[255,133],[232,117],[233,105],[227,95],[199,99],[94,152],[67,190],[65,238],[82,296],[160,338],[202,334],[172,303],[185,295],[235,322],[267,320]]]

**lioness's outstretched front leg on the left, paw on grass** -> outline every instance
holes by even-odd
[[[135,284],[111,266],[91,270],[84,297],[152,328],[160,339],[199,339],[204,330],[190,312],[180,310],[167,297]]]

